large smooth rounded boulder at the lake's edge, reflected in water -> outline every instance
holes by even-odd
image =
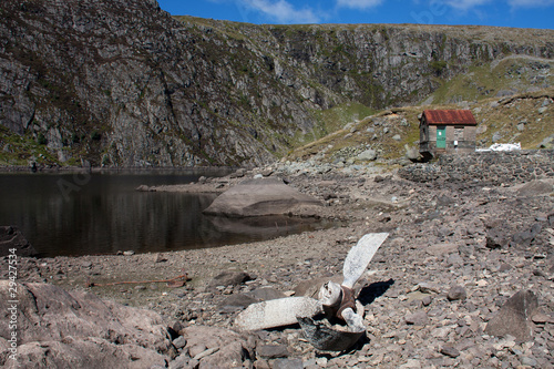
[[[229,217],[316,215],[320,206],[319,201],[287,186],[281,180],[255,178],[224,192],[204,213]]]

